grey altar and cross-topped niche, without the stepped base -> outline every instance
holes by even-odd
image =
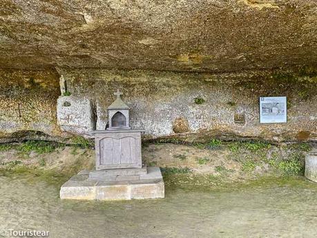
[[[109,126],[96,130],[96,170],[112,168],[142,168],[141,132],[131,130],[129,109],[115,92],[117,99],[108,107]]]

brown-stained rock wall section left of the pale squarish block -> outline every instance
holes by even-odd
[[[0,70],[0,141],[62,135],[56,118],[59,94],[55,70]]]

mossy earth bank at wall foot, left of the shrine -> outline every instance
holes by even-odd
[[[9,160],[1,156],[0,176],[32,175],[61,186],[79,170],[91,169],[91,146],[91,141],[83,137],[75,137],[71,146],[52,141],[0,144],[0,154],[12,154]]]

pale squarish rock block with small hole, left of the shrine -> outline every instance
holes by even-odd
[[[61,96],[57,99],[57,123],[61,130],[86,134],[95,130],[93,103],[86,98]]]

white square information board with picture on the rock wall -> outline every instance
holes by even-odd
[[[260,123],[286,123],[286,97],[260,97]]]

